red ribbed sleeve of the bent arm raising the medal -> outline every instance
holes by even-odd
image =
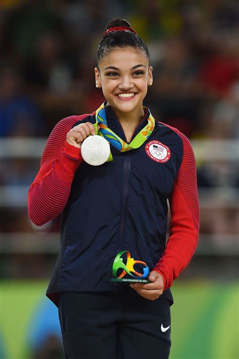
[[[88,114],[62,119],[47,140],[40,170],[28,192],[28,215],[36,225],[55,218],[68,201],[75,171],[83,159],[81,150],[66,141],[67,133],[86,116]]]

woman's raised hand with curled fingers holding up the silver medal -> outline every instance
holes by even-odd
[[[98,126],[99,129],[99,126]],[[90,122],[73,127],[67,134],[67,142],[70,145],[81,148],[82,142],[89,135],[95,135],[95,128]]]

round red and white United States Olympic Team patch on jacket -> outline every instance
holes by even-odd
[[[147,155],[156,162],[165,163],[171,156],[169,147],[157,140],[149,141],[145,146]]]

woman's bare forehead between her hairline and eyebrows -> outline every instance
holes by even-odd
[[[115,47],[105,54],[99,66],[101,69],[107,66],[114,66],[118,69],[131,69],[139,64],[147,67],[148,63],[148,58],[140,49],[134,47]]]

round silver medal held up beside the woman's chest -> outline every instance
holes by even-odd
[[[109,153],[109,143],[101,136],[89,136],[82,142],[81,155],[83,159],[92,166],[98,166],[106,162]]]

